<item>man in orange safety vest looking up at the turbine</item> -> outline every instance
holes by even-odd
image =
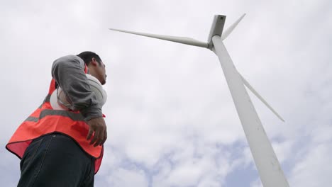
[[[105,65],[94,52],[60,57],[52,64],[48,96],[6,145],[21,159],[18,186],[93,186],[107,138],[101,104],[86,73],[106,83]],[[62,88],[71,106],[53,110],[50,95]]]

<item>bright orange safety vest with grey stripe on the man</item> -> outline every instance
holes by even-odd
[[[87,66],[84,72],[87,73]],[[6,145],[6,149],[22,159],[26,148],[34,139],[53,132],[61,132],[72,137],[84,152],[96,158],[94,163],[94,174],[96,174],[101,165],[104,147],[89,145],[89,140],[86,139],[89,125],[84,121],[81,113],[53,110],[50,105],[50,96],[55,89],[55,79],[52,79],[48,96],[46,96],[43,104],[18,127]]]

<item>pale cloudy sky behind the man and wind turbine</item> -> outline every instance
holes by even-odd
[[[52,62],[85,50],[106,64],[109,139],[95,186],[262,186],[218,58],[210,50],[108,28],[206,41],[214,15],[253,94],[290,186],[331,186],[332,3],[327,0],[3,1],[0,183],[16,186],[4,148],[43,101]]]

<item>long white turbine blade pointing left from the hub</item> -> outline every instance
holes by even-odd
[[[149,33],[138,33],[138,32],[133,32],[133,31],[128,31],[128,30],[120,30],[120,29],[114,29],[114,28],[109,28],[109,30],[115,30],[115,31],[118,31],[118,32],[130,33],[130,34],[134,34],[134,35],[143,35],[143,36],[146,36],[146,37],[157,38],[157,39],[160,39],[160,40],[167,40],[167,41],[171,41],[171,42],[179,42],[179,43],[183,43],[183,44],[186,44],[186,45],[194,45],[194,46],[205,47],[205,48],[209,47],[207,42],[201,42],[199,40],[194,40],[192,38],[170,36],[170,35],[155,35],[155,34],[149,34]]]

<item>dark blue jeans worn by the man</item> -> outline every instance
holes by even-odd
[[[66,135],[39,137],[21,159],[18,186],[94,186],[94,158]]]

